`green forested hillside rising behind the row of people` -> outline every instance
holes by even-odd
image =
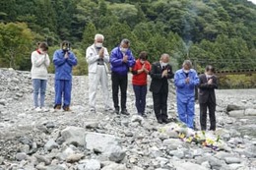
[[[109,51],[127,37],[135,55],[146,50],[156,61],[166,52],[175,67],[185,58],[198,69],[256,65],[256,5],[246,0],[1,0],[0,21],[0,67],[30,70],[37,41],[52,55],[67,39],[80,61],[75,74],[85,74],[96,32]]]

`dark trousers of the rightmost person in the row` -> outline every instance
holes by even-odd
[[[209,97],[206,103],[200,103],[200,124],[201,130],[205,131],[207,128],[207,108],[209,109],[209,117],[210,117],[210,130],[216,130],[216,103]]]

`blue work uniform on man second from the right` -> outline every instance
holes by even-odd
[[[186,78],[190,79],[188,84]],[[195,86],[199,85],[199,78],[195,70],[190,69],[189,73],[180,69],[174,75],[174,84],[176,86],[177,109],[180,121],[189,128],[194,128],[195,116]]]

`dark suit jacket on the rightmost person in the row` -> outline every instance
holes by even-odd
[[[198,85],[199,92],[198,92],[198,101],[199,103],[206,103],[209,98],[211,97],[212,101],[216,103],[216,96],[215,96],[215,88],[218,88],[217,78],[213,76],[213,84],[208,85],[207,77],[205,74],[199,76],[200,83]]]

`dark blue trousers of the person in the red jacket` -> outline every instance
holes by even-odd
[[[145,113],[147,89],[147,85],[133,85],[135,105],[139,114]]]

